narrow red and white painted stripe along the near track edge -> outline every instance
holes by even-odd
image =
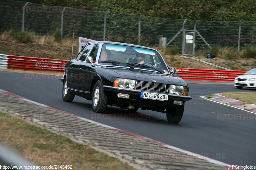
[[[48,108],[48,109],[57,110],[57,111],[59,111],[59,112],[61,112],[61,113],[65,113],[65,114],[68,114],[68,115],[76,116],[77,118],[82,119],[82,120],[84,120],[84,121],[86,121],[86,122],[91,122],[91,123],[97,124],[97,125],[102,126],[102,127],[105,127],[105,128],[109,128],[109,129],[112,129],[112,130],[116,130],[116,131],[119,131],[119,132],[123,132],[123,133],[125,133],[125,134],[130,135],[130,136],[139,137],[139,138],[141,138],[141,139],[154,142],[154,143],[159,144],[159,145],[161,145],[161,146],[163,146],[163,147],[165,147],[165,148],[169,148],[169,149],[172,149],[172,150],[175,150],[175,151],[178,151],[178,152],[182,152],[182,153],[188,154],[188,155],[190,155],[190,156],[194,156],[194,157],[196,157],[196,158],[198,158],[198,159],[203,159],[203,160],[208,161],[208,162],[210,162],[210,163],[213,163],[213,164],[216,164],[216,165],[220,165],[220,166],[224,166],[224,167],[226,167],[226,168],[228,168],[228,169],[233,169],[231,165],[226,164],[226,163],[223,163],[223,162],[220,162],[220,161],[215,160],[215,159],[211,159],[211,158],[208,158],[208,157],[205,157],[205,156],[202,156],[202,155],[193,153],[193,152],[189,152],[189,151],[186,151],[186,150],[177,148],[177,147],[172,146],[172,145],[164,144],[164,143],[162,143],[162,142],[156,141],[156,140],[154,140],[154,139],[150,139],[150,138],[148,138],[148,137],[143,137],[143,136],[140,136],[140,135],[131,133],[131,132],[127,132],[127,131],[124,131],[124,130],[121,130],[121,129],[114,128],[114,127],[112,127],[112,126],[104,125],[104,124],[99,123],[99,122],[94,122],[94,121],[92,121],[92,120],[89,120],[89,119],[83,118],[83,117],[81,117],[81,116],[77,116],[77,115],[74,115],[74,114],[71,114],[71,113],[62,111],[62,110],[58,110],[58,109],[55,109],[55,108],[52,108],[52,107],[48,107],[48,106],[46,106],[46,105],[44,105],[44,104],[37,103],[37,102],[35,102],[35,101],[32,101],[32,100],[29,100],[29,99],[20,97],[20,96],[18,96],[18,95],[15,95],[15,94],[13,94],[13,93],[11,93],[11,92],[4,91],[4,90],[2,90],[2,89],[0,89],[0,92],[4,92],[5,94],[8,94],[8,95],[17,97],[17,98],[19,98],[19,99],[21,99],[21,100],[26,100],[26,101],[28,101],[28,102],[32,102],[32,103],[34,103],[34,104],[36,104],[36,105],[39,105],[39,106],[42,106],[42,107],[45,107],[45,108]],[[239,169],[236,168],[236,170],[239,170]]]

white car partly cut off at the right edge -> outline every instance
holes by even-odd
[[[234,80],[234,85],[241,89],[242,87],[254,87],[256,88],[256,69],[252,69],[241,76],[238,76]]]

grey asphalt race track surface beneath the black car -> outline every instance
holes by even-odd
[[[97,114],[92,111],[91,101],[84,98],[76,96],[73,102],[64,102],[60,77],[0,71],[0,89],[230,165],[256,165],[255,119],[217,119],[216,115],[221,114],[250,113],[200,97],[218,92],[256,92],[256,89],[237,89],[233,83],[187,81],[193,99],[186,102],[180,123],[170,124],[165,114],[154,111],[139,109],[133,117],[114,119],[128,114],[128,110],[108,106],[106,114]],[[145,119],[148,115],[150,119]]]

